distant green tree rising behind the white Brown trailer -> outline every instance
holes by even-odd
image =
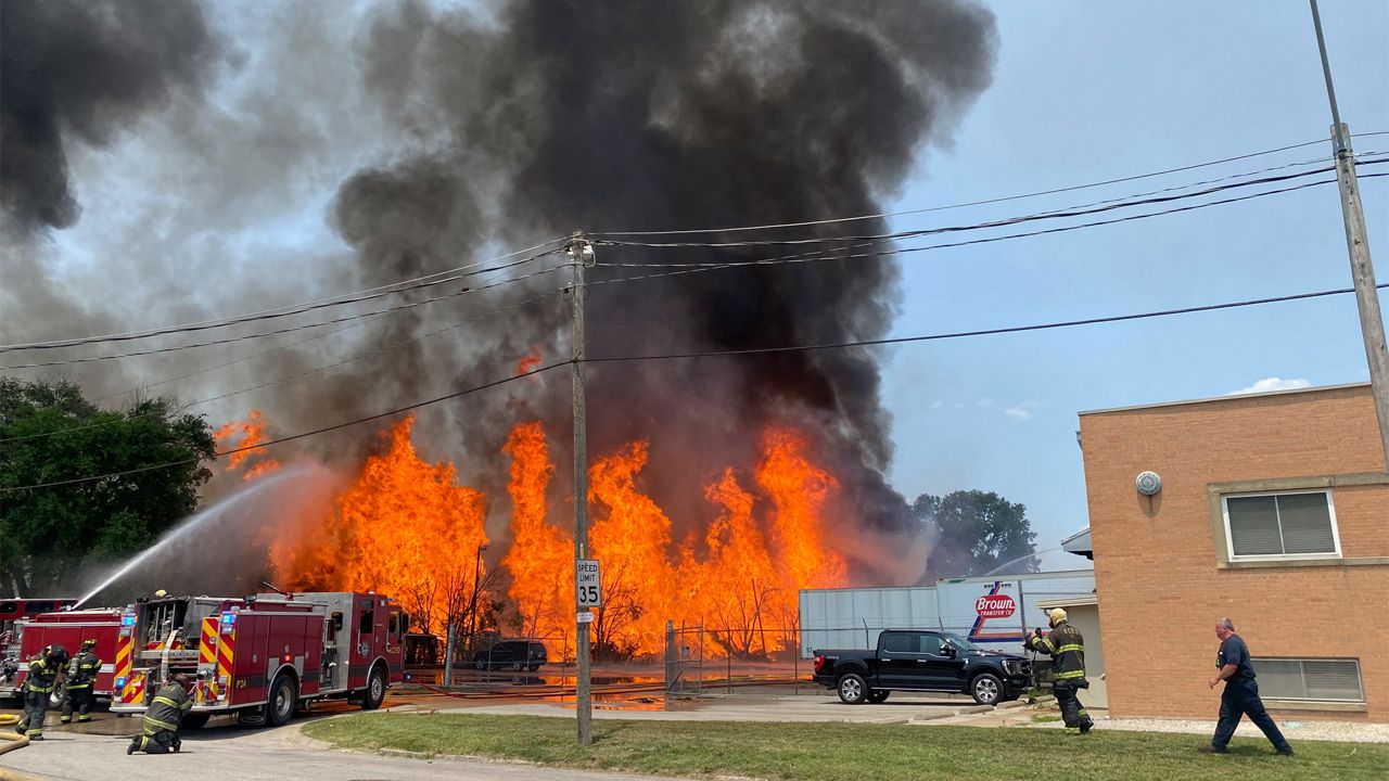
[[[1028,509],[993,492],[922,493],[911,506],[932,541],[925,579],[983,575],[1001,566],[1008,573],[1036,573],[1036,538]]]

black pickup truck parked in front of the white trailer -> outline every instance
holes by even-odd
[[[961,692],[979,705],[997,705],[1033,685],[1026,657],[929,630],[885,630],[876,650],[817,649],[814,680],[847,705],[878,703],[895,691]]]

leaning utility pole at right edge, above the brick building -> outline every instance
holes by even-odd
[[[1365,340],[1365,359],[1370,363],[1370,390],[1375,397],[1375,414],[1379,417],[1385,468],[1389,468],[1389,350],[1385,349],[1385,321],[1379,313],[1375,267],[1370,260],[1370,236],[1365,235],[1365,213],[1360,203],[1350,126],[1340,122],[1336,86],[1331,81],[1331,61],[1326,60],[1326,38],[1321,32],[1321,13],[1317,10],[1317,0],[1310,1],[1313,26],[1317,28],[1317,47],[1321,50],[1321,71],[1326,76],[1326,97],[1331,100],[1331,142],[1336,153],[1336,183],[1340,186],[1340,214],[1346,222],[1346,249],[1350,250],[1350,277],[1356,286],[1360,334]]]

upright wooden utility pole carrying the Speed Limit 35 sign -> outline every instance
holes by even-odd
[[[574,268],[574,283],[569,286],[569,303],[574,313],[571,336],[571,368],[574,374],[574,578],[578,582],[578,563],[589,554],[589,441],[583,409],[583,268],[593,263],[593,245],[583,238],[583,231],[575,231],[565,247],[569,265]],[[575,591],[575,641],[576,661],[574,712],[579,721],[579,745],[593,742],[593,688],[592,664],[589,659],[589,623],[578,614],[583,610]]]

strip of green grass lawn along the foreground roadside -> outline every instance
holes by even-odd
[[[1239,739],[1225,756],[1197,755],[1199,735],[1053,730],[594,721],[579,748],[572,718],[375,713],[325,718],[310,737],[346,749],[393,748],[653,775],[743,775],[785,781],[926,778],[1168,781],[1172,778],[1385,778],[1389,745],[1295,739],[1296,757]],[[1378,770],[1375,770],[1378,768]]]

